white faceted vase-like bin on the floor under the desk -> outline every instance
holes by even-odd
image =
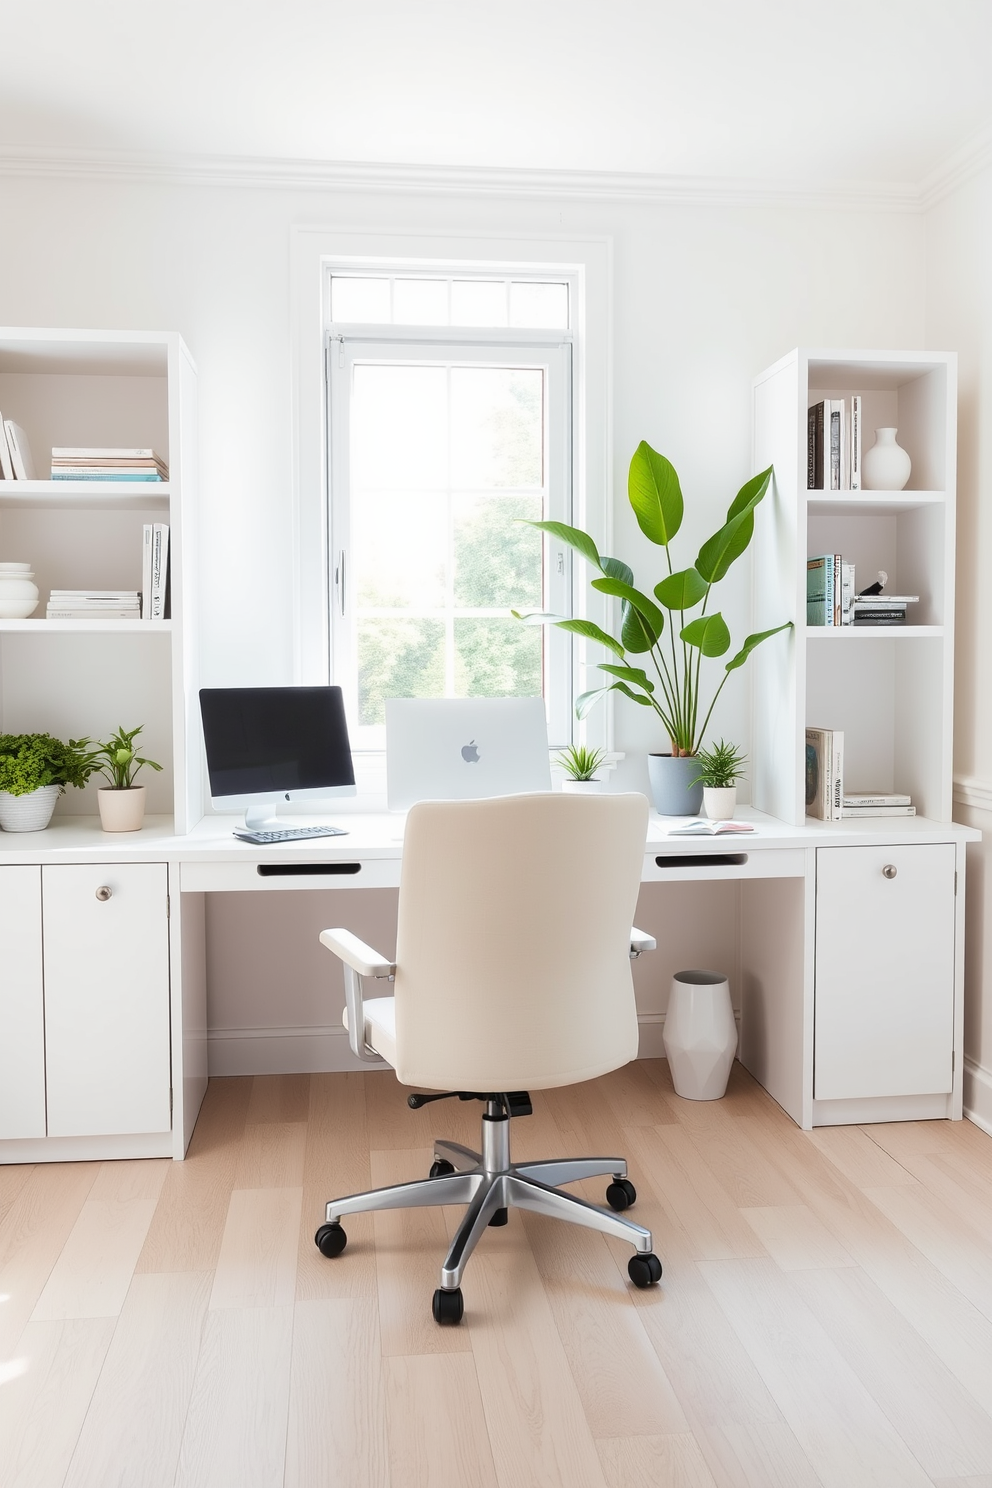
[[[730,987],[720,972],[677,972],[665,1013],[665,1054],[675,1094],[718,1101],[738,1052]]]

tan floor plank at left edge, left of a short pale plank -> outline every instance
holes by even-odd
[[[39,1162],[0,1220],[0,1360],[10,1357],[97,1177],[94,1162]]]

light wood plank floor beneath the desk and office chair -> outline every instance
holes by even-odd
[[[665,1277],[537,1216],[430,1298],[460,1210],[348,1222],[421,1176],[391,1074],[211,1082],[184,1164],[0,1168],[3,1488],[992,1488],[992,1138],[800,1132],[735,1065],[537,1097],[515,1156],[620,1152]],[[602,1184],[582,1186],[602,1202]]]

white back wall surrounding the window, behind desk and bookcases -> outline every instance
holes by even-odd
[[[644,583],[660,574],[645,570],[653,549],[626,507],[640,439],[681,475],[689,562],[751,473],[756,372],[797,344],[924,344],[925,225],[912,214],[55,179],[6,180],[0,204],[0,323],[178,330],[196,359],[204,683],[292,680],[294,223],[613,237],[614,552]],[[724,595],[741,637],[745,562]],[[724,699],[714,728],[747,747],[747,670]],[[640,786],[644,754],[659,747],[641,710],[620,702],[616,743],[629,756],[626,781]],[[211,911],[213,1027],[312,1022],[320,973],[297,955],[299,926],[280,923],[284,899],[244,896]],[[251,937],[265,957],[245,954]],[[238,955],[228,955],[235,942]]]

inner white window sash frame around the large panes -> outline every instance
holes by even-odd
[[[354,368],[358,363],[471,366],[507,365],[538,368],[544,372],[544,458],[549,467],[549,500],[546,516],[552,521],[573,519],[571,500],[571,332],[546,330],[473,330],[439,327],[425,330],[412,326],[348,326],[332,323],[327,339],[327,430],[329,430],[329,653],[330,677],[345,689],[345,698],[357,696],[354,592],[348,583],[351,571],[351,391]],[[556,615],[568,613],[573,591],[571,552],[562,543],[544,542],[543,591],[546,607]],[[571,638],[555,626],[544,631],[544,665],[547,684],[547,729],[553,747],[573,738],[574,687]],[[355,748],[382,748],[382,726],[358,728],[351,720]]]

